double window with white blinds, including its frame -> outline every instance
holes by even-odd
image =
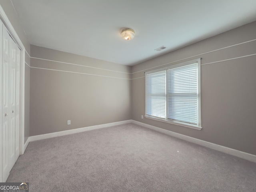
[[[146,72],[146,118],[201,129],[200,59]]]

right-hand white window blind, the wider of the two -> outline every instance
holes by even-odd
[[[168,119],[198,124],[197,64],[169,69]]]

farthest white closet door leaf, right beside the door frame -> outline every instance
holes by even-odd
[[[20,48],[16,45],[15,162],[20,156]]]

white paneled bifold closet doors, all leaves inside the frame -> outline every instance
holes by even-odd
[[[20,155],[20,49],[0,22],[0,182]]]

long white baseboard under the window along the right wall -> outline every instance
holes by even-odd
[[[198,145],[202,145],[202,146],[205,146],[205,147],[208,147],[208,148],[220,151],[220,152],[224,152],[224,153],[236,156],[236,157],[240,157],[240,158],[243,158],[245,160],[252,161],[252,162],[256,163],[256,155],[246,153],[246,152],[242,152],[242,151],[239,151],[239,150],[235,150],[235,149],[232,149],[232,148],[224,147],[224,146],[221,146],[221,145],[218,145],[218,144],[210,143],[210,142],[207,142],[207,141],[204,141],[204,140],[196,139],[196,138],[193,138],[193,137],[190,137],[190,136],[182,135],[182,134],[179,134],[179,133],[176,133],[176,132],[172,132],[172,131],[169,131],[169,130],[158,128],[158,127],[148,125],[148,124],[145,124],[145,123],[142,123],[142,122],[138,122],[138,121],[135,121],[135,120],[131,120],[131,121],[134,124],[144,126],[146,128],[156,130],[158,132],[161,132],[161,133],[164,133],[164,134],[167,134],[167,135],[170,135],[170,136],[174,136],[176,138],[180,138],[182,140],[186,140],[186,141],[198,144]]]

